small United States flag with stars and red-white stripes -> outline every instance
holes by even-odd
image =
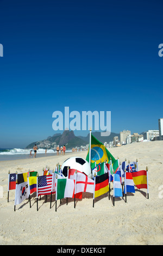
[[[43,175],[38,177],[38,197],[44,194],[51,194],[53,175]]]

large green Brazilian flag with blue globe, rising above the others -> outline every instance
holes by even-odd
[[[89,147],[90,148],[90,147]],[[89,150],[87,152],[86,161],[89,162]],[[116,160],[114,156],[111,155],[108,149],[105,148],[105,146],[98,141],[92,134],[91,134],[91,167],[92,163],[96,161],[96,164],[101,162],[104,162],[106,159],[107,161],[112,160],[112,163],[114,163]]]

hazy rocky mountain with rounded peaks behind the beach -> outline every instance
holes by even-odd
[[[113,138],[115,136],[118,136],[120,138],[119,133],[111,132],[110,136],[101,136],[101,132],[92,132],[92,135],[95,136],[98,141],[104,143],[109,143],[110,141],[113,141]],[[73,131],[65,130],[62,134],[57,133],[53,136],[49,136],[47,139],[43,139],[42,141],[37,141],[30,143],[26,149],[33,148],[36,144],[38,148],[47,148],[47,149],[55,149],[57,145],[59,147],[66,145],[67,149],[72,149],[75,147],[81,147],[85,146],[86,144],[89,144],[89,138],[90,135],[88,134],[86,137],[84,136],[75,136]]]

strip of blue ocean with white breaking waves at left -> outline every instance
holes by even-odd
[[[0,149],[0,161],[18,160],[18,159],[29,159],[30,150],[32,150],[32,157],[34,156],[33,149]],[[66,152],[71,152],[71,150],[66,150]],[[46,157],[55,156],[57,151],[53,149],[47,149],[47,154],[45,155],[45,149],[37,150],[36,157]],[[59,152],[60,155],[60,152]]]

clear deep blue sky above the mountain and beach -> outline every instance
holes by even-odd
[[[162,1],[0,5],[0,148],[52,136],[52,114],[65,106],[111,111],[112,132],[158,130]]]

